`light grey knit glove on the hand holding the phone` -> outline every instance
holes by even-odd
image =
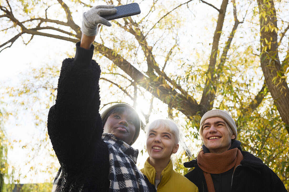
[[[82,14],[81,32],[87,36],[94,36],[97,34],[100,24],[110,27],[110,22],[101,16],[112,15],[115,14],[116,11],[114,5],[98,5],[92,7]]]

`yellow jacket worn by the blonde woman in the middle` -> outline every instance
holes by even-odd
[[[142,168],[140,171],[147,176],[151,184],[155,185],[156,171],[155,168],[149,164],[149,158],[147,161],[145,161],[144,168]],[[190,180],[188,180],[186,177],[173,170],[173,163],[171,159],[166,168],[162,170],[160,183],[156,187],[158,187],[158,192],[199,192],[198,187],[194,183],[190,182]]]

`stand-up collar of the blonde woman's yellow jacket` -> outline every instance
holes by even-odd
[[[155,168],[151,164],[149,164],[149,157],[144,162],[144,168],[142,170],[143,170],[143,173],[145,174],[145,176],[147,176],[147,178],[149,179],[149,182],[152,183],[153,185],[155,185],[156,171],[155,171]],[[158,185],[158,188],[163,187],[168,182],[168,180],[170,180],[171,176],[173,175],[173,172],[174,172],[173,162],[170,159],[166,168],[164,168],[164,170],[162,170],[161,181]]]

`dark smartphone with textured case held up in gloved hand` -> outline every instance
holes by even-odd
[[[113,19],[119,19],[123,17],[129,17],[129,16],[140,14],[140,6],[138,5],[138,3],[120,5],[115,8],[117,9],[116,14],[104,15],[102,17],[110,21]]]

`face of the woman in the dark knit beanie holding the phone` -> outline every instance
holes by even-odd
[[[112,113],[104,124],[103,132],[111,133],[127,144],[130,144],[136,132],[134,121],[136,119],[131,113],[128,113],[128,110]]]

